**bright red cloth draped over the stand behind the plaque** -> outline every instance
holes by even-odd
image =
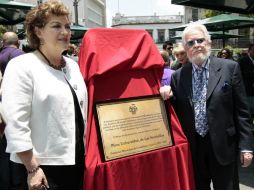
[[[79,56],[89,96],[84,189],[194,190],[189,146],[170,104],[175,146],[108,162],[100,154],[94,102],[159,93],[163,60],[150,35],[144,30],[90,29]]]

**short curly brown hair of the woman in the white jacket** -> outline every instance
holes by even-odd
[[[28,12],[25,20],[26,35],[29,46],[38,49],[41,41],[36,35],[35,27],[43,28],[51,16],[69,16],[69,9],[59,0],[49,0]]]

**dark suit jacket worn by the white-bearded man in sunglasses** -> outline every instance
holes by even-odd
[[[173,73],[171,88],[172,103],[196,159],[191,63]],[[206,107],[208,135],[220,164],[235,161],[238,147],[252,150],[251,118],[238,63],[210,57]]]

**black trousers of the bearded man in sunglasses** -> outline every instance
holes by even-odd
[[[197,190],[239,190],[237,155],[235,162],[228,165],[218,163],[210,141],[210,135],[196,137],[197,149],[193,155],[193,166]],[[192,153],[193,154],[193,153]]]

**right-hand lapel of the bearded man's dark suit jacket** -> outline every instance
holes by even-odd
[[[208,87],[207,87],[207,95],[206,95],[207,100],[211,96],[220,78],[221,78],[221,63],[219,61],[216,62],[216,59],[214,57],[210,57],[209,79],[208,79]]]

